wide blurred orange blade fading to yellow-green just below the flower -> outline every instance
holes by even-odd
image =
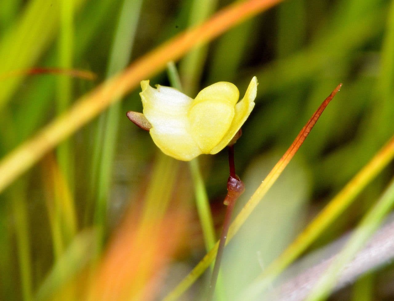
[[[186,234],[190,207],[179,161],[158,152],[145,197],[132,203],[110,240],[86,301],[148,301]],[[141,208],[139,208],[141,206]]]

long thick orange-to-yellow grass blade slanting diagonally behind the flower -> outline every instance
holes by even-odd
[[[206,43],[232,26],[267,10],[282,0],[237,2],[216,13],[210,20],[180,33],[162,46],[138,59],[124,72],[101,84],[77,100],[69,111],[45,126],[35,137],[9,153],[0,162],[0,192],[28,170],[46,152],[89,122],[113,102],[118,101],[141,80],[150,78],[193,46]]]

